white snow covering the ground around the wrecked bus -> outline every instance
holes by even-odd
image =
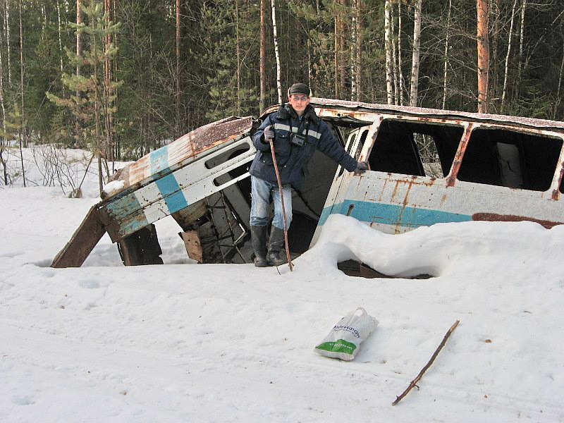
[[[164,265],[123,266],[106,235],[51,269],[97,202],[86,186],[0,186],[1,422],[564,420],[564,226],[386,235],[331,216],[290,272],[192,264],[163,219]],[[397,277],[346,276],[347,259]],[[379,326],[355,360],[314,353],[359,306]]]

